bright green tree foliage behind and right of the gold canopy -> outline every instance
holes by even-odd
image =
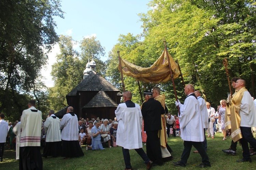
[[[224,58],[228,60],[230,77],[245,79],[246,88],[252,96],[256,95],[254,1],[152,0],[148,5],[152,10],[139,14],[143,21],[144,39],[139,41],[141,36],[137,36],[134,41],[129,34],[121,35],[113,48],[119,49],[122,58],[136,65],[149,67],[162,53],[163,40],[166,40],[168,51],[174,60],[179,61],[185,83],[194,84],[213,106],[226,98],[229,91]],[[114,80],[110,78],[111,81],[118,81],[119,84],[115,85],[121,87],[118,74],[114,74],[118,61],[116,57],[113,58],[112,53],[109,55],[107,73],[112,73]],[[134,85],[134,80],[126,77],[124,79],[127,90],[132,91],[130,86]],[[166,94],[167,106],[175,113],[175,96],[170,84],[171,81],[157,86]],[[153,87],[144,83],[141,86],[144,89]],[[178,98],[184,101],[181,79],[175,80],[175,86]]]

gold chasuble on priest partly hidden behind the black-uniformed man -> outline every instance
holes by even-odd
[[[159,101],[165,109],[165,94],[155,97],[155,100]],[[162,129],[158,131],[158,137],[160,139],[160,145],[166,148],[167,135],[166,135],[166,119],[165,114],[161,115],[161,126]]]

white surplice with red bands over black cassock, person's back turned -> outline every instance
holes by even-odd
[[[43,169],[40,152],[42,112],[34,106],[24,110],[20,126],[19,169]]]

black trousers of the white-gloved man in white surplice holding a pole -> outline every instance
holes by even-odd
[[[184,141],[184,150],[181,155],[181,162],[187,164],[192,146],[194,146],[202,157],[202,163],[211,165],[209,157],[203,148],[202,142]]]

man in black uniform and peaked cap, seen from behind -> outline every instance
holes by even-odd
[[[157,165],[162,165],[162,154],[158,131],[161,128],[161,115],[165,114],[165,109],[161,103],[154,100],[151,91],[144,91],[145,103],[142,104],[142,116],[144,118],[144,131],[147,134],[146,151],[147,156]]]

